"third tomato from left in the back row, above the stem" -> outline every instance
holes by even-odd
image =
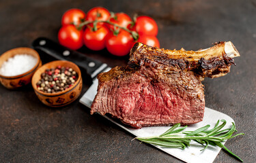
[[[115,14],[114,18],[110,19],[110,22],[113,22],[119,26],[127,27],[128,24],[132,22],[132,19],[127,14],[124,14],[123,12],[119,12]],[[114,30],[115,27],[113,25],[109,25],[109,28]]]

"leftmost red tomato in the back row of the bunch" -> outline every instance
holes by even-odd
[[[63,14],[61,18],[61,24],[62,25],[68,25],[68,24],[78,25],[81,23],[81,20],[84,20],[84,19],[85,19],[85,13],[82,10],[70,9]]]

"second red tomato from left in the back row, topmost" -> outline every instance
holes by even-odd
[[[91,10],[89,10],[85,20],[109,20],[110,16],[111,14],[109,10],[106,10],[104,7],[94,7]]]

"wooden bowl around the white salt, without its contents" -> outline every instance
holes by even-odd
[[[35,64],[35,66],[32,69],[20,75],[5,76],[0,74],[1,84],[3,84],[3,86],[5,86],[8,89],[19,88],[21,86],[25,86],[31,83],[31,78],[33,76],[33,73],[35,73],[35,70],[37,70],[39,67],[42,66],[42,61],[40,59],[40,56],[38,52],[36,52],[35,50],[31,48],[14,48],[12,50],[8,50],[7,52],[3,53],[0,56],[0,67],[3,65],[3,62],[8,60],[8,58],[12,58],[17,54],[29,54],[37,58],[38,62]]]

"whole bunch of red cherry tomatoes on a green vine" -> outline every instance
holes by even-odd
[[[81,22],[84,21],[87,23],[82,26]],[[120,12],[112,16],[104,7],[93,7],[87,14],[73,8],[63,14],[61,24],[59,43],[72,50],[85,45],[91,50],[106,48],[115,56],[125,56],[134,45],[134,39],[149,46],[160,47],[156,38],[158,26],[149,16],[138,16],[136,22],[132,22],[127,14]],[[76,29],[79,24],[81,31]]]

